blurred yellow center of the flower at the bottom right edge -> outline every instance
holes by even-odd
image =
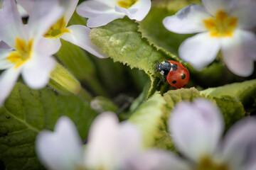
[[[216,164],[208,157],[203,157],[195,170],[229,170],[225,164]]]

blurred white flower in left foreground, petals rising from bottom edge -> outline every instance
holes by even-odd
[[[38,134],[36,152],[41,162],[53,170],[60,169],[119,169],[127,157],[141,148],[137,128],[121,123],[114,113],[102,113],[92,123],[85,149],[75,125],[62,117],[55,132]]]

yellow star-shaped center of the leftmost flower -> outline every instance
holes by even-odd
[[[33,40],[29,40],[28,43],[25,40],[16,38],[15,48],[16,51],[6,58],[12,63],[15,63],[14,68],[18,68],[31,58]]]

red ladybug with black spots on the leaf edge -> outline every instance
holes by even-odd
[[[156,72],[160,72],[164,77],[164,81],[167,79],[169,84],[176,89],[186,86],[190,77],[188,69],[183,67],[181,63],[173,60],[164,60],[164,62],[157,63]]]

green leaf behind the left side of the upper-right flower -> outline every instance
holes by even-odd
[[[151,10],[143,21],[139,22],[139,31],[142,33],[142,37],[157,49],[178,55],[179,45],[191,35],[171,33],[164,28],[162,22],[166,16],[173,16],[181,8],[198,2],[200,1],[153,1]]]

